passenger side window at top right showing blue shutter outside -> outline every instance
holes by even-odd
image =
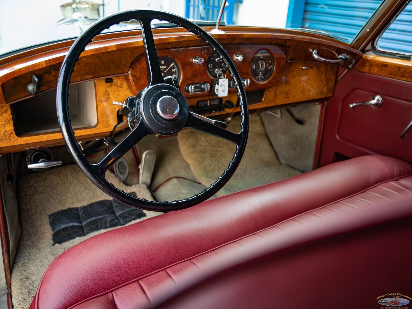
[[[396,16],[374,43],[377,54],[411,56],[412,54],[412,2]]]

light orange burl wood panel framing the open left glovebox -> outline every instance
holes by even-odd
[[[75,129],[77,141],[109,136],[117,124],[119,106],[112,105],[112,101],[122,102],[133,94],[129,88],[127,76],[114,76],[112,78],[112,83],[105,83],[103,79],[94,81],[98,123],[93,128]],[[62,145],[63,143],[63,137],[57,131],[31,136],[16,136],[10,105],[0,105],[0,154]]]

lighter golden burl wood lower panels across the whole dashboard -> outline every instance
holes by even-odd
[[[282,71],[280,81],[272,87],[262,89],[264,96],[261,102],[250,104],[250,110],[260,110],[297,103],[313,101],[332,96],[337,67],[323,63],[287,62]],[[135,95],[127,75],[113,76],[112,83],[105,83],[104,79],[94,81],[96,87],[96,101],[98,109],[98,124],[94,128],[76,129],[78,141],[91,140],[109,136],[117,124],[117,110],[119,106],[112,105],[112,101],[122,102],[127,97]],[[248,90],[248,88],[246,88]],[[196,106],[197,101],[216,98],[215,96],[189,97],[189,106]],[[236,93],[229,93],[224,99],[236,104]],[[250,102],[253,103],[253,102]],[[18,103],[17,103],[18,104]],[[226,108],[224,112],[216,112],[207,116],[230,117],[240,112],[239,107]],[[122,123],[122,128],[125,123]],[[10,105],[0,105],[0,154],[25,151],[28,149],[63,145],[61,133],[52,132],[32,136],[16,136],[12,123]]]

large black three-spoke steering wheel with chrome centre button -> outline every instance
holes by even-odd
[[[68,106],[68,88],[70,76],[74,70],[80,54],[84,51],[87,44],[103,30],[110,28],[114,24],[122,21],[136,19],[139,21],[142,29],[143,42],[145,45],[145,55],[147,64],[148,86],[136,95],[133,100],[128,100],[128,108],[131,110],[129,122],[132,122],[132,130],[120,141],[98,164],[91,164],[80,149],[80,145],[75,138],[75,132],[70,124],[69,106]],[[168,21],[186,28],[189,32],[201,38],[206,45],[210,46],[214,52],[217,52],[224,66],[229,70],[230,77],[233,80],[234,87],[237,89],[237,95],[240,99],[241,108],[241,129],[235,134],[219,126],[207,122],[204,117],[196,115],[189,111],[185,96],[170,81],[165,82],[160,70],[159,59],[157,58],[155,40],[153,38],[151,21],[158,19]],[[131,102],[129,102],[131,101]],[[187,19],[175,14],[155,11],[155,10],[129,10],[119,12],[101,19],[88,28],[73,43],[66,58],[64,59],[57,82],[57,114],[63,139],[67,145],[70,155],[75,160],[83,173],[103,192],[110,197],[126,205],[148,211],[175,211],[190,206],[194,206],[210,198],[220,190],[225,183],[232,177],[239,162],[242,158],[246,147],[249,129],[248,104],[246,101],[246,92],[243,88],[241,77],[233,61],[225,52],[223,47],[205,30]],[[210,187],[187,197],[183,200],[176,201],[148,201],[129,195],[123,190],[119,190],[105,179],[105,172],[120,157],[128,152],[144,136],[149,134],[173,135],[183,128],[191,128],[212,134],[219,138],[232,141],[236,145],[233,159],[215,183]]]

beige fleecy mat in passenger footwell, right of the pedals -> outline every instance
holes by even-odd
[[[227,129],[235,133],[239,132],[240,117],[233,118]],[[178,142],[194,176],[206,187],[222,175],[236,150],[235,145],[227,140],[195,130],[181,131]],[[238,192],[299,174],[300,171],[279,162],[267,138],[260,116],[250,115],[248,143],[241,163],[217,195]]]

